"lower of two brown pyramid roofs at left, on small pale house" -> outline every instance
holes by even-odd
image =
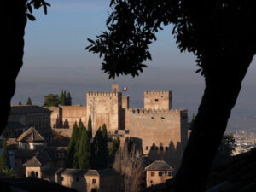
[[[46,150],[36,154],[32,159],[27,160],[23,166],[44,166],[49,162],[49,154]]]

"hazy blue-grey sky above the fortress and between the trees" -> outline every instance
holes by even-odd
[[[195,56],[181,54],[172,37],[172,26],[164,27],[151,45],[152,61],[137,78],[119,77],[108,80],[101,71],[101,60],[84,50],[86,38],[95,38],[105,30],[108,0],[55,0],[48,15],[36,10],[37,20],[28,21],[25,36],[24,66],[17,79],[12,104],[26,102],[31,96],[34,104],[42,105],[44,96],[70,91],[74,104],[85,105],[87,91],[108,91],[111,84],[128,86],[125,95],[131,98],[131,107],[143,107],[143,90],[172,90],[173,107],[195,112],[201,101],[204,81],[195,73]],[[256,59],[243,82],[234,114],[256,119]],[[221,109],[221,106],[220,106]],[[247,110],[248,109],[248,110]],[[256,122],[256,121],[255,121]],[[255,128],[256,129],[256,128]]]

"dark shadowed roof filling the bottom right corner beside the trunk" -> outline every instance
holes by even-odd
[[[210,172],[206,184],[207,192],[256,191],[256,148],[231,157],[223,166]]]

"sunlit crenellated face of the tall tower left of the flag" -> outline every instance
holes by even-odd
[[[120,126],[122,93],[88,92],[87,115],[91,115],[92,129],[97,130],[104,123],[109,130],[118,130]]]

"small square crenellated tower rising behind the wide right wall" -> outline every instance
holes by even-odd
[[[145,90],[144,91],[145,109],[167,109],[172,108],[171,90]]]

